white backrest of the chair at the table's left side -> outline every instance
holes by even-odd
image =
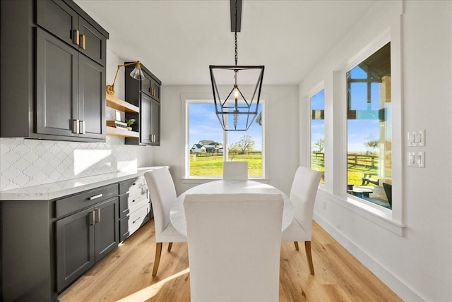
[[[176,188],[167,167],[146,171],[150,203],[153,205],[155,234],[160,234],[169,224],[169,210],[176,201]]]

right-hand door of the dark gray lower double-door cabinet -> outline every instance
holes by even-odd
[[[119,244],[119,198],[95,206],[95,261],[99,261]]]

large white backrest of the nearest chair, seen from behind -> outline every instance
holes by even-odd
[[[191,301],[278,301],[281,194],[187,194]]]

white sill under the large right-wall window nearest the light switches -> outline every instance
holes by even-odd
[[[345,207],[351,212],[355,212],[357,215],[378,224],[380,227],[388,229],[398,236],[403,236],[406,225],[393,219],[392,210],[386,209],[386,207],[373,205],[370,202],[361,198],[355,198],[349,194],[333,195],[324,191],[321,187],[319,187],[319,196],[324,198],[324,200],[331,201],[341,207]]]

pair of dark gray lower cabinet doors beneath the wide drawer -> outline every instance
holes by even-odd
[[[57,291],[62,291],[119,244],[119,199],[56,222]]]

